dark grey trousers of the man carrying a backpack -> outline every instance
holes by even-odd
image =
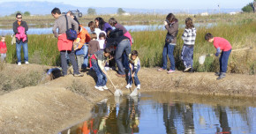
[[[67,53],[67,56],[70,59],[70,62],[72,63],[74,74],[79,74],[79,66],[78,66],[78,63],[77,63],[76,58],[75,58],[74,50],[72,48],[71,51],[66,51],[66,50],[60,51],[60,59],[61,59],[61,67],[62,67],[62,70],[63,70],[62,71],[63,75],[64,76],[67,75],[67,71],[68,71],[66,53]]]

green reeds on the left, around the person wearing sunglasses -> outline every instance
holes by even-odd
[[[11,37],[7,36],[7,57],[8,63],[16,63],[16,45],[11,45]],[[28,57],[30,63],[60,65],[59,51],[57,50],[57,39],[53,34],[28,35]],[[23,52],[21,52],[23,59]]]

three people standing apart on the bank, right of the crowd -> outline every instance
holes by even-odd
[[[158,71],[167,71],[167,56],[169,57],[170,67],[167,73],[172,73],[175,71],[175,58],[173,56],[173,50],[177,43],[177,33],[178,33],[178,19],[174,14],[169,13],[164,21],[164,25],[168,33],[166,34],[165,45],[162,50],[162,67]],[[191,18],[185,19],[185,29],[182,35],[182,40],[184,41],[184,46],[182,48],[181,59],[184,63],[184,72],[193,72],[193,49],[196,40],[196,28],[192,23]],[[218,76],[217,79],[225,78],[225,73],[227,71],[228,60],[231,52],[230,42],[221,37],[214,37],[213,34],[206,34],[205,40],[208,42],[213,42],[216,53],[215,56],[219,56],[221,51],[222,54],[219,58],[220,71],[216,72],[215,75]]]

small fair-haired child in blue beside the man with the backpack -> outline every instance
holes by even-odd
[[[85,56],[85,51],[84,51],[84,45],[79,45],[80,38],[77,38],[73,42],[73,48],[75,50],[75,55],[77,57],[78,65],[79,65],[79,71],[82,69],[82,64],[84,63],[84,56]]]

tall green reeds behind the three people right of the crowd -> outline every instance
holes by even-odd
[[[219,24],[211,28],[197,27],[197,39],[194,47],[194,69],[196,71],[218,71],[218,58],[207,57],[205,63],[200,65],[199,56],[203,54],[214,54],[215,48],[212,43],[204,39],[204,35],[212,33],[215,36],[223,37],[230,41],[232,48],[254,47],[251,50],[233,52],[230,55],[229,71],[237,73],[254,74],[256,66],[255,42],[256,42],[256,22],[242,21],[236,25]],[[184,65],[180,59],[183,41],[181,36],[184,29],[179,29],[177,34],[177,46],[174,49],[177,70],[183,70]],[[162,48],[166,31],[143,31],[132,33],[135,43],[132,49],[139,51],[139,58],[145,67],[155,67],[162,65]],[[242,66],[242,67],[241,67]]]

